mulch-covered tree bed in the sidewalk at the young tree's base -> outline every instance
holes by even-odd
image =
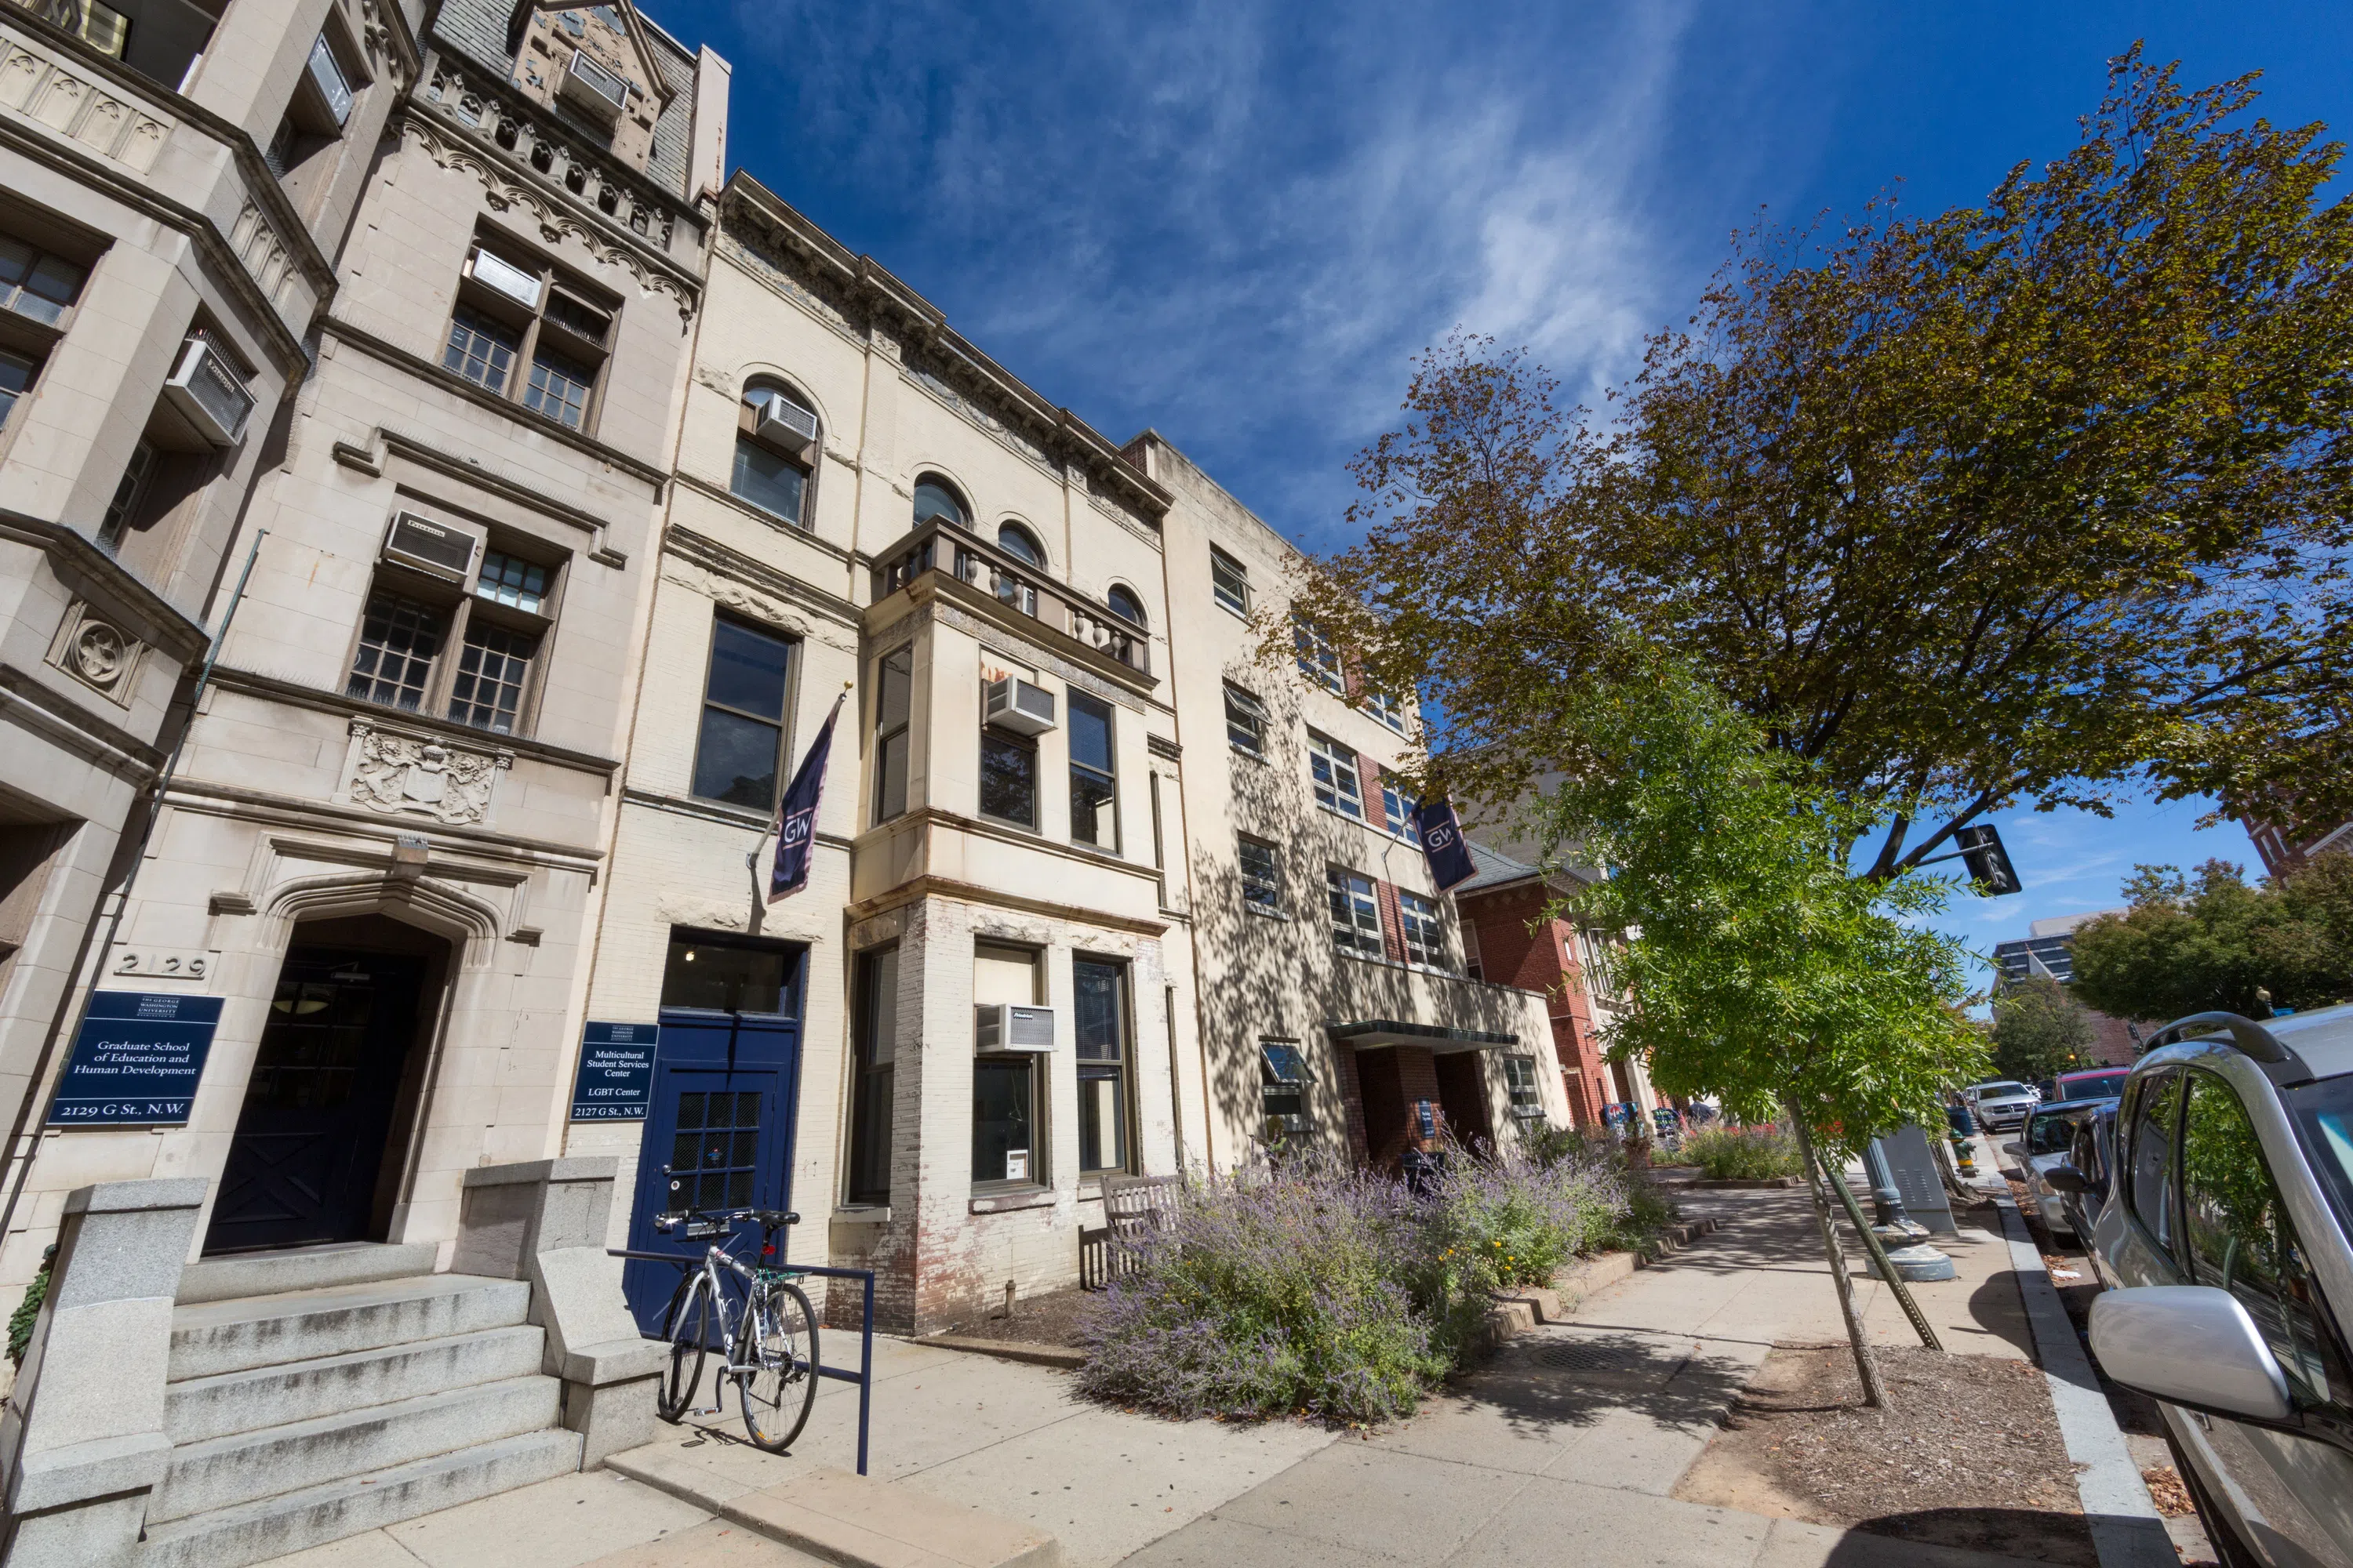
[[[1868,1410],[1845,1345],[1774,1349],[1675,1495],[2097,1568],[2038,1368],[1915,1347],[1875,1354],[1887,1406]]]

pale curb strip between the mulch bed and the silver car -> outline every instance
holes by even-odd
[[[2092,1371],[2092,1359],[2075,1338],[2075,1324],[2059,1302],[2059,1286],[2042,1265],[2042,1251],[2007,1194],[1993,1206],[2002,1213],[2009,1267],[2026,1300],[2035,1356],[2042,1361],[2042,1380],[2059,1415],[2059,1439],[2066,1443],[2068,1462],[2075,1465],[2075,1493],[2082,1497],[2082,1521],[2092,1528],[2099,1568],[2181,1568],[2174,1537],[2167,1535],[2158,1505],[2148,1500],[2148,1483],[2132,1462],[2115,1410],[2099,1387],[2099,1373]]]

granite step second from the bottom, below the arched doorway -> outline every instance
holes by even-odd
[[[148,1526],[544,1432],[560,1396],[555,1378],[506,1378],[179,1443],[148,1500]]]

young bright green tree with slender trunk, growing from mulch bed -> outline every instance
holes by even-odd
[[[1551,741],[1593,759],[1548,797],[1548,832],[1609,877],[1579,917],[1626,931],[1635,1006],[1609,1048],[1668,1095],[1720,1098],[1746,1121],[1788,1121],[1831,1168],[1904,1121],[1941,1124],[1941,1093],[1984,1065],[1960,1013],[1969,954],[1922,929],[1934,877],[1859,879],[1845,846],[1873,823],[1809,764],[1769,743],[1687,665],[1577,682]],[[1817,1173],[1807,1171],[1868,1403],[1882,1392]]]

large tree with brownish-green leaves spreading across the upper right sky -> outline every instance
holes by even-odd
[[[2339,146],[2113,61],[1979,205],[1755,228],[1605,418],[1459,336],[1292,595],[1445,712],[1428,788],[1586,762],[1586,672],[1689,658],[1897,877],[2017,802],[2353,816],[2353,207]]]

